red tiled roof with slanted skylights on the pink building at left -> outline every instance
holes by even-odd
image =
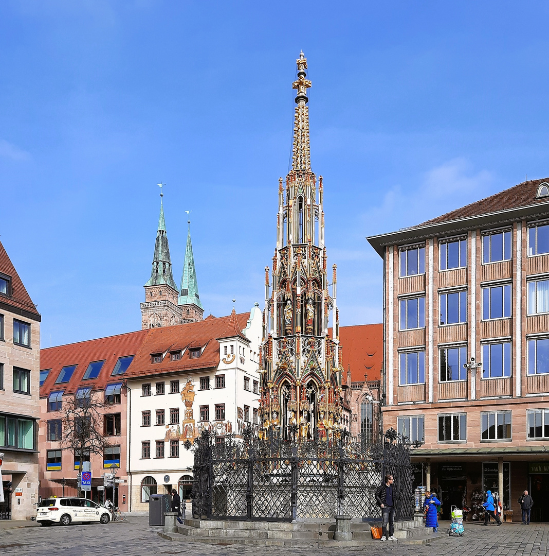
[[[64,390],[74,393],[81,386],[92,386],[102,390],[108,383],[120,382],[124,375],[111,376],[118,358],[135,355],[143,345],[149,330],[138,330],[117,336],[107,336],[95,340],[76,342],[40,350],[40,368],[51,369],[48,378],[40,387],[40,397],[44,398],[52,391]],[[97,379],[82,380],[88,364],[93,361],[105,361]],[[78,365],[68,383],[54,384],[62,367]]]

